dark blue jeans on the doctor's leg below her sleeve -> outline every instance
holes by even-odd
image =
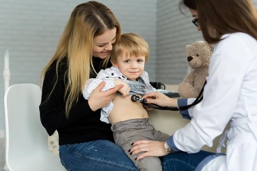
[[[191,154],[183,151],[171,153],[164,156],[164,171],[194,171],[202,160],[212,154],[203,150]]]

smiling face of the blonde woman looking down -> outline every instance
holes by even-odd
[[[109,55],[116,41],[116,30],[116,28],[106,30],[93,38],[93,57],[105,59]]]

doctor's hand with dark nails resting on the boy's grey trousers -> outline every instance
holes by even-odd
[[[164,148],[165,142],[160,141],[150,141],[150,140],[140,140],[136,141],[133,144],[133,147],[131,148],[130,152],[132,152],[131,155],[137,154],[139,152],[143,152],[141,155],[137,157],[136,160],[140,160],[147,156],[164,156],[167,155],[168,152]]]

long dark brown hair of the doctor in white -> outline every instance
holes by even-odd
[[[257,10],[251,0],[196,0],[204,39],[217,43],[224,34],[243,32],[257,39]],[[208,29],[216,30],[213,38]]]

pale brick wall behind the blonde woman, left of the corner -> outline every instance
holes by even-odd
[[[0,129],[4,128],[3,51],[9,49],[10,85],[39,84],[71,11],[87,0],[0,0]],[[150,46],[146,70],[155,79],[156,0],[98,0],[120,21],[122,32],[140,34]],[[1,135],[0,131],[0,135]]]

